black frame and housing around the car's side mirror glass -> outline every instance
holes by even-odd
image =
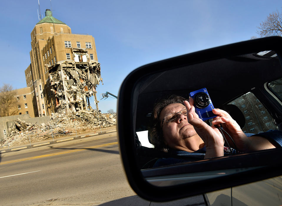
[[[152,75],[163,74],[166,71],[171,71],[176,68],[193,67],[193,65],[217,59],[230,59],[230,57],[238,57],[266,50],[276,51],[279,59],[277,62],[281,64],[282,37],[276,36],[243,41],[165,59],[139,67],[125,78],[120,87],[117,104],[117,128],[120,154],[130,186],[140,197],[151,201],[169,201],[263,180],[282,174],[282,161],[280,158],[282,149],[280,148],[263,150],[250,154],[235,155],[232,157],[218,157],[213,158],[212,160],[200,160],[148,170],[140,170],[140,167],[137,164],[135,142],[135,132],[137,130],[136,122],[139,121],[137,104],[138,97],[146,89],[144,87],[144,81],[150,79]],[[203,71],[205,71],[204,69],[205,68],[203,68]],[[238,71],[240,72],[240,70]],[[266,71],[269,72],[269,70]],[[230,75],[228,68],[226,69],[225,74],[224,70],[220,72],[223,76]],[[263,74],[263,69],[261,69],[261,72],[261,74]],[[261,74],[258,76],[262,76]],[[209,76],[210,74],[207,73],[203,75]],[[249,72],[246,75],[249,76],[244,78],[251,78],[252,72]],[[281,78],[282,71],[274,69],[271,75],[274,75],[273,79],[277,77]],[[266,79],[263,78],[268,78],[268,81],[272,80],[272,77],[268,76],[258,78],[257,81],[265,81]],[[191,89],[194,86],[197,85],[191,85]],[[238,96],[243,92],[248,92],[251,89],[249,87],[251,87],[251,83],[246,83],[240,87],[241,90],[238,91],[238,94],[235,96]],[[261,88],[256,89],[259,90]],[[173,91],[176,90],[172,89],[169,92],[172,93]],[[223,104],[223,102],[218,101],[216,104],[219,106]],[[281,105],[274,100],[272,104],[273,108],[276,108],[276,116],[282,116]],[[202,178],[205,174],[208,176],[208,174],[210,175],[211,173],[213,173],[213,177]],[[225,174],[218,175],[222,173]],[[176,175],[188,177],[190,174],[198,174],[201,177],[199,179],[194,179],[193,181],[187,180],[183,183],[180,181],[176,185],[165,186],[157,186],[148,181],[152,177],[173,179]]]

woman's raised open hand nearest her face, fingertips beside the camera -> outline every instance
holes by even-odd
[[[193,106],[194,100],[191,97],[189,97],[189,102],[184,101],[184,105],[187,109],[188,123],[193,125],[197,134],[205,143],[205,159],[223,156],[224,140],[220,131],[214,125],[210,127],[199,118],[198,114],[195,112],[195,107]]]

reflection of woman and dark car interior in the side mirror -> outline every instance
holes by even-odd
[[[280,147],[277,138],[282,115],[277,115],[274,100],[263,91],[263,85],[270,82],[269,87],[274,88],[273,81],[281,82],[281,77],[281,64],[274,51],[193,65],[187,62],[180,68],[148,74],[135,89],[138,166],[144,171],[158,167],[169,170],[169,165]],[[193,99],[189,99],[190,92],[202,88],[219,108],[210,109],[218,116],[215,122],[203,122],[197,110],[194,112]]]

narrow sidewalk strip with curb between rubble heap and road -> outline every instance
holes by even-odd
[[[22,149],[29,149],[29,148],[34,148],[34,147],[45,146],[45,145],[49,145],[49,144],[55,144],[55,143],[58,143],[58,142],[66,142],[66,141],[70,141],[70,140],[74,140],[74,139],[81,139],[81,138],[84,138],[84,137],[92,137],[92,136],[95,136],[95,135],[101,135],[101,134],[116,132],[117,131],[116,128],[117,128],[116,126],[103,128],[102,132],[101,132],[100,129],[99,130],[96,129],[96,131],[99,131],[98,133],[87,132],[87,133],[83,133],[83,134],[72,134],[70,136],[54,138],[54,141],[53,141],[52,138],[50,138],[50,139],[39,141],[39,142],[33,142],[33,143],[31,142],[31,144],[22,144],[22,145],[17,145],[17,146],[12,146],[12,147],[1,147],[0,148],[0,154],[6,153],[6,152],[19,151],[19,150],[22,150]]]

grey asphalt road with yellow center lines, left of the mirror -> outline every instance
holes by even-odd
[[[116,133],[109,136],[2,154],[1,205],[99,205],[135,198],[122,170]]]

